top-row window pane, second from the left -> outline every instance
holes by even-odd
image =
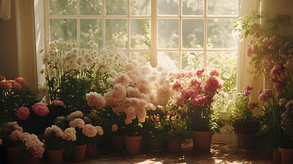
[[[80,0],[81,15],[101,15],[102,0]]]

